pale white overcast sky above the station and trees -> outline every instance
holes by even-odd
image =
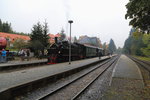
[[[128,0],[0,0],[0,19],[11,22],[17,32],[31,32],[38,21],[45,19],[49,33],[64,28],[69,35],[67,20],[72,19],[72,36],[96,36],[102,43],[112,38],[122,47],[131,26],[125,20]]]

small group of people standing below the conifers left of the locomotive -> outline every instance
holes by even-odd
[[[21,57],[21,61],[24,61],[25,59],[27,59],[27,61],[29,61],[30,58],[30,50],[29,49],[21,49],[19,51],[19,55]]]

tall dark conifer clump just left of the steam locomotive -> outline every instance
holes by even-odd
[[[30,35],[30,46],[35,52],[35,55],[38,55],[38,51],[44,53],[44,49],[49,45],[48,42],[48,25],[45,22],[42,26],[40,22],[33,26],[31,35]]]

